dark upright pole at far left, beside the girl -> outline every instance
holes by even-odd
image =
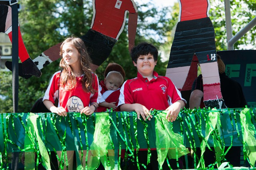
[[[13,112],[18,112],[19,91],[19,50],[18,50],[18,1],[10,1],[12,24],[12,67],[13,67]]]

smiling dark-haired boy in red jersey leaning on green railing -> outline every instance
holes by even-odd
[[[158,51],[150,43],[141,43],[131,50],[137,77],[124,82],[118,107],[121,111],[136,111],[138,119],[151,120],[151,109],[167,110],[166,119],[175,121],[186,100],[168,77],[159,76],[154,68]]]

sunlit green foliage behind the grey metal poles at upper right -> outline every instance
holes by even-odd
[[[215,30],[216,49],[227,50],[227,31],[225,20],[224,0],[210,0],[211,9],[209,12]],[[231,0],[231,23],[232,35],[236,35],[243,29],[256,15],[256,0]],[[255,29],[251,29],[237,43],[235,50],[248,50],[255,48]]]

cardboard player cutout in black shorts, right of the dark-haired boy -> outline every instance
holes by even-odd
[[[188,82],[190,63],[195,54],[203,75],[205,106],[226,108],[221,94],[214,28],[209,18],[209,0],[179,0],[179,6],[179,22],[166,76],[178,89],[185,90],[183,88],[187,87],[185,82]]]

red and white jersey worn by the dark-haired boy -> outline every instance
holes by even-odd
[[[186,103],[172,81],[154,71],[150,81],[139,73],[136,78],[125,81],[120,90],[118,106],[139,103],[148,110],[165,110],[177,100]]]

